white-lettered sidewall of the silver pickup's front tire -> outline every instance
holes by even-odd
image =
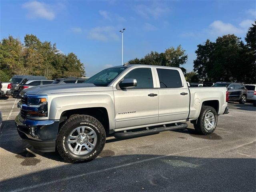
[[[70,133],[75,128],[80,127],[80,126],[88,126],[88,127],[92,128],[95,131],[96,136],[97,136],[97,143],[96,143],[96,146],[94,147],[94,149],[91,152],[89,152],[88,154],[84,154],[84,155],[74,154],[69,149],[68,143],[67,143],[68,136],[70,135]],[[106,140],[106,137],[102,137],[102,133],[100,132],[99,126],[102,126],[102,125],[100,123],[99,123],[99,125],[97,125],[97,123],[94,123],[90,120],[80,119],[80,118],[79,118],[79,120],[76,120],[76,122],[72,123],[72,125],[70,125],[70,123],[66,124],[64,129],[62,131],[60,131],[58,134],[58,140],[57,140],[58,150],[62,150],[64,155],[66,155],[68,158],[70,158],[72,160],[76,160],[76,161],[85,161],[90,158],[93,158],[94,156],[95,157],[98,156],[98,154],[102,150],[101,149],[102,142],[104,142]]]

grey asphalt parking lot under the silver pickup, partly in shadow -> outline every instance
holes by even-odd
[[[108,138],[98,158],[68,164],[18,135],[18,99],[1,98],[0,191],[256,191],[256,108],[232,103],[215,132],[193,125],[130,139]]]

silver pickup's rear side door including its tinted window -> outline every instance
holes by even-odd
[[[186,84],[182,84],[181,72],[156,68],[156,73],[160,86],[159,123],[187,119],[190,95]]]

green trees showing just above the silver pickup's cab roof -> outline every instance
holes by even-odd
[[[129,61],[129,64],[147,64],[147,65],[159,65],[159,66],[170,66],[180,67],[184,73],[186,69],[181,67],[188,60],[186,51],[179,45],[176,49],[170,47],[163,53],[150,52],[144,56],[144,58],[135,58]]]

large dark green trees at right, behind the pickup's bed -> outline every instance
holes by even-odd
[[[254,35],[254,37],[253,37]],[[206,40],[199,44],[194,60],[194,71],[199,79],[216,82],[255,83],[255,24],[246,35],[246,42],[234,34]]]

